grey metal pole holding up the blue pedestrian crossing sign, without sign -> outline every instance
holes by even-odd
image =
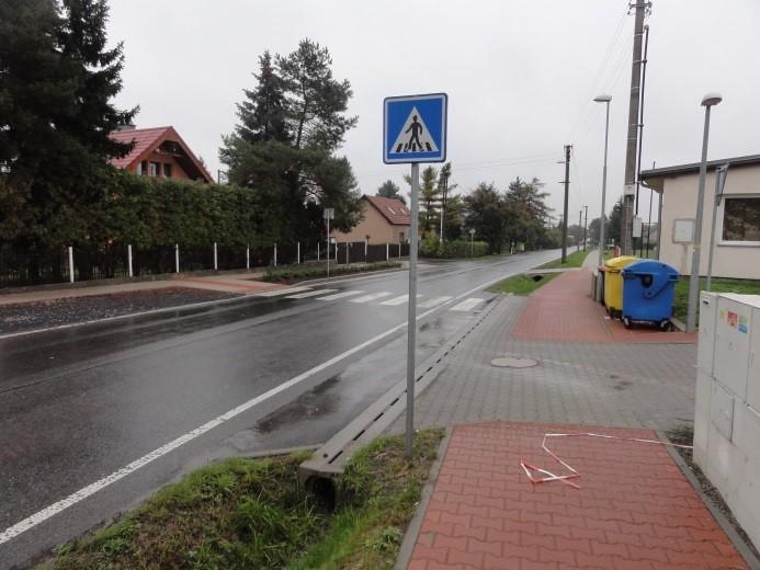
[[[407,457],[415,454],[415,344],[417,337],[417,212],[420,166],[411,164],[411,236],[409,240],[409,317],[407,320]]]

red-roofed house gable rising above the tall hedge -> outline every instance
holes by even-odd
[[[138,176],[214,182],[174,127],[135,128],[127,125],[111,133],[111,138],[135,144],[127,156],[110,160],[116,168],[128,170]]]

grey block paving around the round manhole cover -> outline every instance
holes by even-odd
[[[547,285],[548,286],[548,285]],[[535,341],[510,335],[526,303],[504,296],[418,398],[418,426],[490,420],[671,429],[693,420],[693,344]],[[535,358],[497,368],[499,356]],[[392,431],[404,431],[404,417]]]

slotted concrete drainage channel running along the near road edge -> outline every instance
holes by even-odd
[[[475,320],[461,328],[444,346],[419,364],[415,379],[415,397],[420,395],[435,380],[445,365],[444,358],[454,352],[462,342],[494,310],[495,299],[488,301]],[[334,506],[339,501],[336,479],[343,472],[347,461],[353,453],[381,435],[406,410],[406,378],[385,392],[375,403],[354,418],[351,423],[338,432],[330,441],[317,449],[311,459],[300,464],[298,479],[307,490],[319,495],[327,504]]]

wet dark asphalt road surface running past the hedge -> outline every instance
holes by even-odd
[[[427,265],[420,303],[557,256]],[[0,340],[0,568],[27,563],[214,458],[329,438],[404,378],[404,330],[329,361],[402,323],[406,304],[382,303],[407,287],[407,272],[394,272],[313,286],[334,289],[320,296],[364,292],[334,300],[247,297]],[[351,300],[375,293],[387,295]],[[473,310],[450,310],[460,300],[418,323],[418,362],[473,318]],[[3,531],[26,517],[283,385],[290,387],[3,540]]]

